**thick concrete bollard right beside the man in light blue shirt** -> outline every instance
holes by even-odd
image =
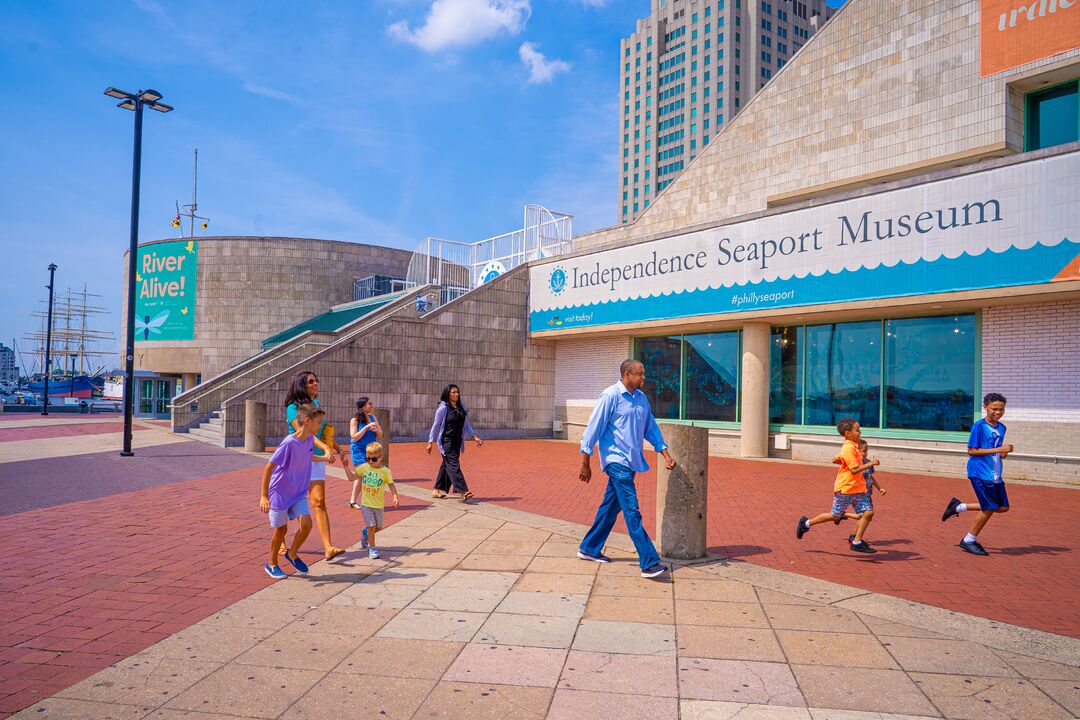
[[[678,464],[664,466],[657,458],[657,545],[676,560],[705,557],[708,497],[708,431],[661,423],[667,451]]]

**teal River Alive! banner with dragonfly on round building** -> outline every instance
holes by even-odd
[[[199,243],[177,241],[138,248],[135,342],[194,340]]]

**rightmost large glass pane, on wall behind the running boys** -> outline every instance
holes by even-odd
[[[886,426],[971,430],[974,315],[890,320],[885,330]]]

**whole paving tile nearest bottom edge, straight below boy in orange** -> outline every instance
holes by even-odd
[[[851,668],[792,665],[792,671],[810,707],[939,715],[926,695],[901,670],[861,669],[854,675],[858,678],[858,688],[854,689]],[[874,691],[859,692],[863,688],[873,688]]]

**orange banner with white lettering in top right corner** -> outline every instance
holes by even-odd
[[[980,0],[983,77],[1080,47],[1080,0]]]

